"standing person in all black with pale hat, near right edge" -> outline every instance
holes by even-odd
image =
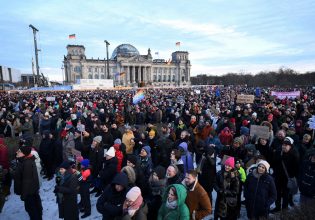
[[[285,137],[282,151],[278,151],[274,161],[274,178],[277,188],[276,207],[272,212],[285,210],[289,204],[288,177],[297,178],[299,172],[299,156],[293,145],[293,139]],[[287,177],[287,174],[288,177]]]

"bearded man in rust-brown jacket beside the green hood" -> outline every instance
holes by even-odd
[[[190,212],[190,218],[201,220],[211,214],[211,203],[207,192],[198,182],[198,173],[190,170],[186,173],[183,184],[187,188],[186,204]]]

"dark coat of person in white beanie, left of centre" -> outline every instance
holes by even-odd
[[[105,160],[104,167],[99,173],[103,188],[110,184],[115,175],[117,174],[117,164],[118,160],[116,157],[113,157],[109,160]]]

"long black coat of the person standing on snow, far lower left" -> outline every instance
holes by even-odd
[[[18,161],[14,173],[14,193],[24,200],[29,195],[39,193],[38,173],[33,155],[20,158]]]

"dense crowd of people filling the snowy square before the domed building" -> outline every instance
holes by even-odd
[[[270,88],[150,88],[136,102],[136,90],[1,93],[0,211],[13,184],[30,219],[42,219],[39,189],[52,179],[66,220],[91,216],[92,196],[104,220],[237,219],[242,206],[267,219],[297,205],[298,191],[314,204],[315,91],[298,90],[279,99]],[[7,139],[19,139],[14,158]]]

